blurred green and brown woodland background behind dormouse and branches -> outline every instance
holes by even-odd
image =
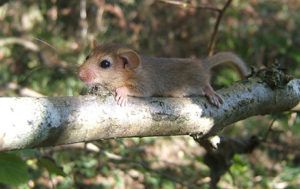
[[[190,0],[222,8],[225,0]],[[300,75],[300,1],[233,0],[215,52],[233,51],[252,67],[279,63]],[[91,43],[126,44],[141,54],[206,57],[216,12],[159,0],[0,1],[0,96],[76,96]],[[213,84],[239,80],[216,69]],[[280,99],[279,99],[280,100]],[[26,110],[24,110],[26,111]],[[270,125],[272,124],[272,128]],[[236,155],[220,188],[299,188],[300,118],[257,116],[224,130],[266,140]],[[208,188],[205,151],[187,136],[105,140],[0,153],[0,188]]]

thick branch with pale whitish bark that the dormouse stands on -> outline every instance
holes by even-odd
[[[130,98],[113,96],[2,97],[0,151],[117,137],[212,135],[250,116],[290,110],[300,101],[300,80],[272,90],[251,79],[218,91],[216,108],[203,97]]]

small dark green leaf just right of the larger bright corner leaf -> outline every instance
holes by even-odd
[[[47,169],[50,174],[66,176],[63,168],[56,164],[56,162],[48,157],[42,157],[38,160],[38,166]]]

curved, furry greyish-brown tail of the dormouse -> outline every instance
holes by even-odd
[[[230,63],[234,65],[235,68],[237,68],[239,74],[243,78],[250,74],[246,63],[236,54],[231,52],[219,52],[211,57],[206,58],[204,62],[205,66],[207,66],[208,69],[211,69],[220,64]]]

